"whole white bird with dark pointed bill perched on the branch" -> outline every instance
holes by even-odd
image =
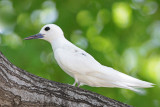
[[[100,64],[90,54],[69,42],[62,29],[55,24],[47,24],[38,34],[25,39],[48,41],[52,45],[58,65],[75,79],[74,86],[77,83],[78,86],[117,87],[139,91],[136,88],[149,88],[154,85]]]

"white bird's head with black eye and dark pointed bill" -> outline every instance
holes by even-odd
[[[53,40],[55,40],[59,37],[63,37],[63,35],[64,35],[63,31],[59,26],[57,26],[55,24],[47,24],[42,27],[42,29],[40,30],[40,32],[38,34],[26,37],[24,39],[25,40],[44,39],[48,42],[52,42]]]

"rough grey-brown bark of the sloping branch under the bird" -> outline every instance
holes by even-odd
[[[0,107],[130,107],[99,94],[50,81],[11,64],[0,52]]]

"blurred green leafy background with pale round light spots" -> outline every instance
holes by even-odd
[[[40,77],[73,84],[43,40],[25,41],[48,23],[101,64],[155,83],[138,94],[127,89],[82,86],[135,107],[160,107],[159,0],[0,0],[0,51]]]

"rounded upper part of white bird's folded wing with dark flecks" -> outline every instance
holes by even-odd
[[[91,55],[78,47],[69,47],[56,49],[55,59],[59,66],[66,72],[87,74],[97,71],[101,66]]]

